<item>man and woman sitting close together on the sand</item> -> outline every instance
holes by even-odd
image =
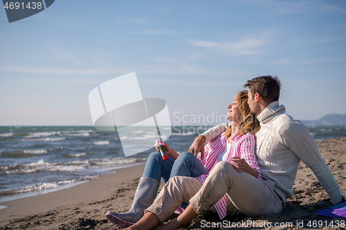
[[[162,160],[159,152],[149,155],[131,209],[109,211],[107,219],[118,227],[153,229],[174,211],[183,211],[158,226],[179,229],[208,210],[217,211],[221,219],[228,214],[280,213],[293,195],[300,160],[334,204],[345,201],[309,130],[279,105],[279,79],[255,77],[245,87],[249,90],[238,93],[227,106],[230,124],[196,137],[190,153],[179,155],[164,144],[169,159]],[[208,144],[203,146],[204,142]],[[165,186],[157,195],[161,178]]]

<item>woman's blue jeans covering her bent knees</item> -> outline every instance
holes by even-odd
[[[149,155],[143,177],[153,178],[158,182],[162,179],[165,184],[176,175],[198,177],[203,174],[208,174],[206,168],[192,153],[183,152],[174,161],[170,156],[167,160],[162,160],[161,153],[156,151]]]

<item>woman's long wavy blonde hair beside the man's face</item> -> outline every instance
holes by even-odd
[[[245,133],[255,134],[260,130],[260,122],[258,122],[254,113],[251,113],[250,107],[248,106],[248,90],[242,90],[235,95],[239,111],[242,114],[239,118],[237,117],[237,123],[240,125],[239,133],[237,135],[243,135]],[[226,133],[226,137],[232,135],[232,126],[229,126]]]

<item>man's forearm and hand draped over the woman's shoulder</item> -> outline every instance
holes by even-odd
[[[221,133],[224,133],[226,129],[228,128],[229,124],[223,123],[219,124],[217,126],[214,126],[212,128],[209,128],[207,131],[199,135],[194,139],[194,142],[192,142],[189,152],[198,155],[199,152],[201,152],[201,159],[204,159],[204,143],[211,142],[215,140]]]

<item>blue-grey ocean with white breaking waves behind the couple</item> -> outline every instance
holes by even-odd
[[[194,138],[207,128],[172,126],[166,142],[178,153],[188,151]],[[346,136],[346,126],[308,128],[316,140]],[[145,127],[140,132],[141,141],[146,135],[152,136]],[[136,142],[136,135],[138,131],[129,133],[129,139]],[[93,126],[0,126],[0,203],[66,189],[116,169],[143,165],[155,151],[154,143],[152,146],[125,157],[116,131],[98,131]]]

